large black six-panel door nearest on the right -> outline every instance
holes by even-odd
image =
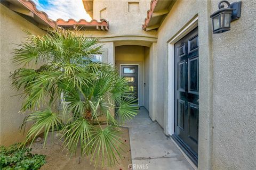
[[[198,155],[198,28],[175,45],[174,140],[197,165]]]

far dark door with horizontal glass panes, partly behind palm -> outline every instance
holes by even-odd
[[[138,65],[121,65],[121,76],[128,81],[128,86],[135,92],[138,99],[139,89],[139,66]]]

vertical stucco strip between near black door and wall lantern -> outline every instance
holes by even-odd
[[[213,57],[211,1],[202,1],[198,13],[199,37],[199,139],[198,170],[211,169],[213,117]]]

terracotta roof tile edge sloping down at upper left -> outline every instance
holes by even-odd
[[[37,9],[36,4],[30,0],[18,0],[22,5],[26,6],[30,11],[34,12],[39,18],[41,18],[44,22],[49,24],[52,28],[57,28],[58,25],[55,21],[51,20],[49,16]]]

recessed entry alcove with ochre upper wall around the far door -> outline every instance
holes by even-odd
[[[115,66],[137,93],[139,106],[149,111],[149,47],[121,45],[115,47]]]

